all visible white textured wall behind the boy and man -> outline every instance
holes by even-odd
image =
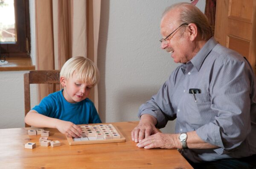
[[[99,115],[102,121],[139,120],[140,105],[157,93],[177,67],[169,54],[160,49],[159,24],[164,9],[181,1],[190,2],[102,0],[98,50],[101,73]],[[200,0],[198,7],[204,11],[204,6],[205,0]],[[0,72],[0,128],[24,127],[25,72]],[[32,85],[32,105],[37,101],[35,91]],[[173,132],[174,122],[169,122],[162,131]]]

